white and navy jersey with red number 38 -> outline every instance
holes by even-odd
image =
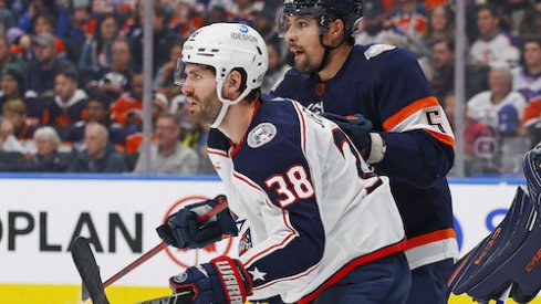
[[[253,295],[308,303],[358,265],[403,250],[386,177],[337,126],[296,102],[257,104],[236,147],[212,129],[208,153],[238,217]]]

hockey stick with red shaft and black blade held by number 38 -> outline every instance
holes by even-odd
[[[207,213],[202,214],[197,219],[198,222],[204,222],[211,218],[212,216],[219,213],[227,207],[227,200],[222,199],[219,203],[209,210]],[[94,304],[108,304],[108,300],[105,295],[105,289],[118,281],[132,270],[143,264],[158,252],[167,248],[167,243],[160,242],[158,245],[150,249],[148,252],[129,263],[127,266],[111,276],[105,283],[102,284],[102,279],[100,276],[100,266],[96,263],[94,254],[90,248],[90,242],[87,239],[79,237],[73,241],[72,244],[72,258],[75,266],[77,268],[79,274],[83,281],[83,292],[81,295],[82,301],[92,298]]]

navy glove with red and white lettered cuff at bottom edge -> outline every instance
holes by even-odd
[[[195,304],[243,304],[252,294],[252,281],[242,263],[225,255],[170,277],[169,286],[174,293],[191,291]]]

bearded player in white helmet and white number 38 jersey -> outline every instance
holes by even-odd
[[[266,50],[236,23],[201,28],[184,44],[175,82],[191,119],[211,127],[208,153],[229,208],[201,226],[198,214],[223,197],[188,206],[158,233],[201,248],[236,234],[235,219],[241,239],[239,260],[189,268],[171,289],[194,290],[193,303],[405,303],[410,273],[388,179],[333,122],[260,94]]]

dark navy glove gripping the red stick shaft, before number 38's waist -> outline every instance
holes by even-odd
[[[237,237],[237,224],[229,208],[205,222],[197,221],[198,217],[207,213],[223,200],[227,200],[225,196],[217,196],[214,199],[180,209],[167,219],[167,223],[156,229],[159,238],[176,248],[197,249],[220,241],[223,234]]]

